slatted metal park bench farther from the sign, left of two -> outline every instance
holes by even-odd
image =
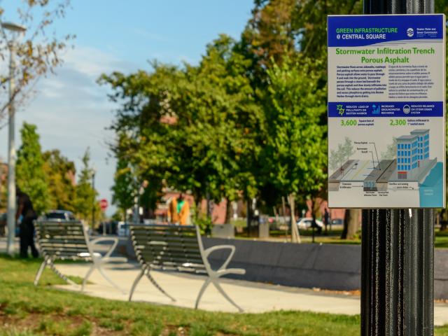
[[[62,221],[60,219],[36,221],[35,228],[38,245],[43,256],[43,262],[38,269],[36,279],[34,279],[35,286],[37,286],[42,272],[47,266],[67,283],[78,286],[59,272],[54,262],[55,260],[83,260],[92,262],[92,265],[84,276],[83,284],[80,288],[81,291],[84,290],[89,276],[97,269],[113,287],[123,293],[127,293],[116,285],[102,268],[106,262],[127,262],[126,258],[111,257],[113,250],[115,250],[118,244],[118,238],[101,237],[91,240],[87,227],[80,221]],[[94,251],[94,247],[102,241],[111,241],[112,243],[109,251],[104,255]]]

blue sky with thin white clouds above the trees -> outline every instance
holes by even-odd
[[[14,20],[17,3],[0,2],[3,20]],[[74,48],[64,52],[56,74],[39,80],[31,99],[20,106],[17,139],[24,120],[34,123],[43,150],[59,148],[78,168],[90,146],[99,197],[111,201],[115,161],[106,142],[113,134],[105,128],[116,106],[95,80],[101,73],[150,69],[150,59],[197,64],[218,34],[239,38],[252,8],[253,0],[72,0],[66,18],[54,27],[57,34],[76,34]],[[6,129],[0,130],[3,159],[7,137]]]

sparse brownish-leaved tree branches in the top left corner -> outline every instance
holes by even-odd
[[[74,36],[56,34],[50,28],[55,20],[64,18],[66,8],[69,7],[69,0],[48,1],[48,0],[27,0],[18,1],[18,22],[27,27],[25,38],[18,38],[15,45],[10,41],[10,33],[0,27],[0,58],[8,59],[10,49],[15,50],[15,89],[12,92],[12,99],[21,103],[27,97],[27,89],[41,76],[45,76],[48,71],[53,71],[61,64],[59,57],[66,48],[66,43]],[[6,18],[13,16],[6,13],[0,6],[1,21],[8,21]],[[3,73],[0,73],[0,120],[6,116],[6,109],[9,106],[10,95],[7,89],[11,76],[8,68],[3,66]]]

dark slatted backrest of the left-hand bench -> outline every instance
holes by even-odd
[[[88,255],[88,235],[80,221],[57,219],[35,223],[36,237],[43,256],[54,259],[85,259],[85,255]]]

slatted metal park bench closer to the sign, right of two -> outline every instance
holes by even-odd
[[[151,270],[159,269],[207,275],[207,279],[197,295],[195,309],[197,309],[202,294],[212,283],[228,302],[239,311],[243,311],[218,283],[219,278],[223,275],[246,273],[244,269],[227,268],[235,253],[235,246],[218,245],[204,249],[200,229],[197,225],[130,225],[130,229],[132,244],[141,265],[141,272],[132,284],[129,300],[132,300],[132,295],[141,277],[146,275],[155,288],[158,288],[172,301],[176,301],[160,287],[151,275]],[[213,269],[208,259],[209,255],[222,249],[230,250],[228,258],[221,267]]]

